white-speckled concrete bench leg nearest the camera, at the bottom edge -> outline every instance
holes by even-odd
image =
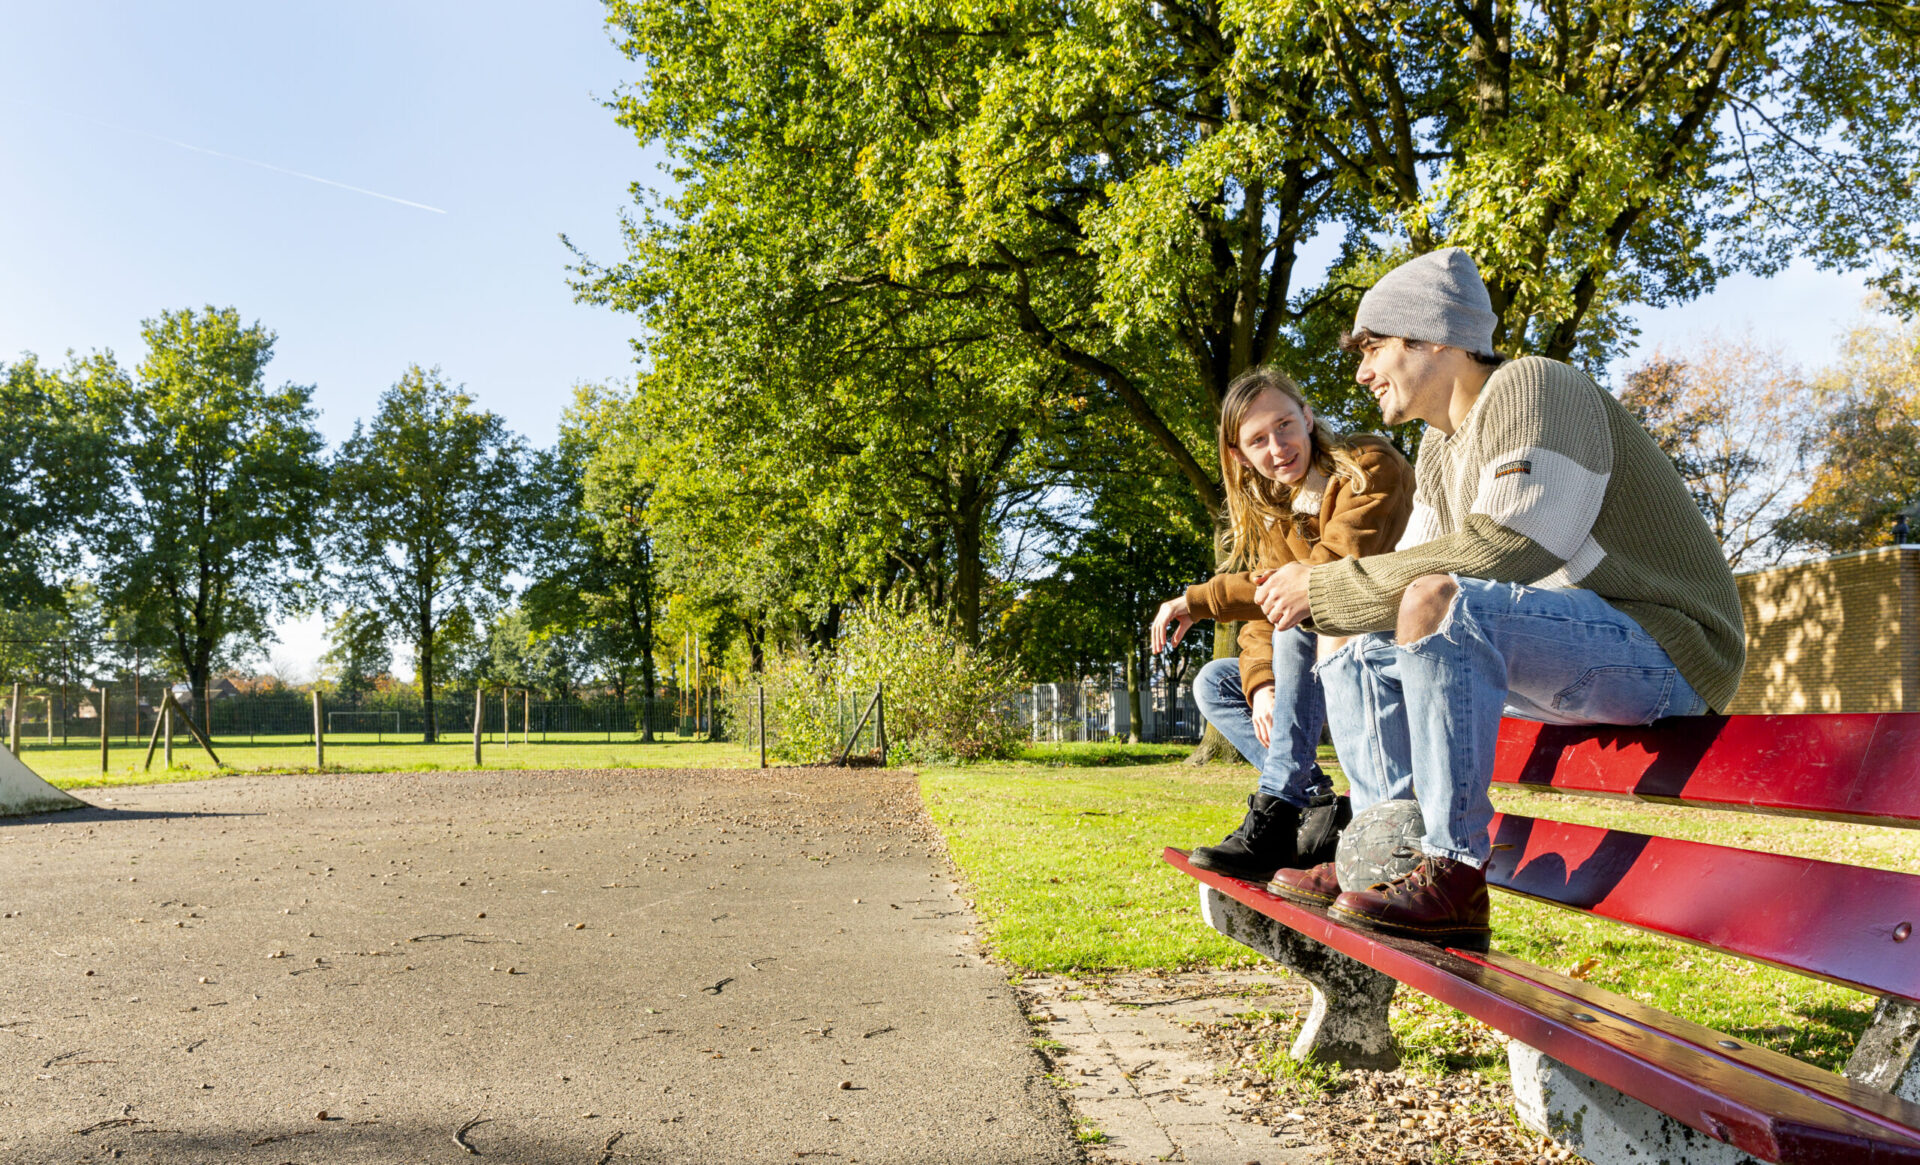
[[[1521,1123],[1588,1161],[1761,1165],[1734,1146],[1682,1125],[1594,1077],[1576,1073],[1519,1040],[1507,1042],[1507,1067],[1513,1069],[1513,1109]]]

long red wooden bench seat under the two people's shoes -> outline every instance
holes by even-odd
[[[1678,1033],[1668,1031],[1649,1021],[1649,1015],[1670,1019],[1651,1008],[1605,1008],[1490,960],[1354,931],[1263,887],[1196,869],[1183,850],[1169,846],[1164,858],[1302,935],[1755,1157],[1784,1165],[1920,1165],[1920,1134],[1914,1132],[1920,1106],[1837,1077],[1832,1084],[1814,1086],[1805,1073],[1774,1075],[1751,1056],[1763,1050],[1743,1046],[1734,1056],[1716,1044],[1701,1046],[1686,1038],[1690,1031],[1720,1038],[1711,1029],[1684,1025]]]

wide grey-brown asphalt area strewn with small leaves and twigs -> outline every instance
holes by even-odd
[[[0,1161],[1081,1157],[910,775],[88,800],[0,818]]]

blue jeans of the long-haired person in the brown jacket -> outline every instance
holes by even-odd
[[[1273,633],[1273,747],[1254,731],[1254,710],[1240,691],[1240,660],[1213,660],[1194,676],[1194,702],[1219,735],[1260,772],[1260,791],[1306,808],[1332,781],[1315,764],[1327,697],[1313,674],[1317,637],[1294,628]]]

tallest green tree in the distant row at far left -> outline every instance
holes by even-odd
[[[132,378],[100,361],[88,392],[123,418],[109,530],[94,547],[106,605],[152,637],[202,716],[215,668],[273,639],[319,570],[326,499],[313,390],[267,386],[275,336],[232,307],[140,326]]]

